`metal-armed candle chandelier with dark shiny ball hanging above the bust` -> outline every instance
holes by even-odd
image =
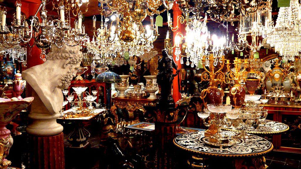
[[[78,21],[76,21],[74,28],[71,28],[70,20],[65,20],[65,7],[63,2],[60,2],[60,20],[47,16],[45,9],[46,0],[42,0],[39,9],[34,16],[26,19],[25,14],[21,13],[21,1],[16,1],[17,11],[13,16],[13,23],[11,26],[6,25],[6,8],[2,10],[1,20],[1,45],[11,47],[14,45],[33,46],[36,45],[42,49],[40,58],[46,60],[46,49],[51,45],[56,45],[58,48],[62,47],[62,43],[69,46],[79,45],[86,41],[87,34],[85,34],[85,27],[82,25],[82,12],[78,13]],[[40,17],[37,17],[40,12]],[[41,21],[40,21],[41,20]],[[11,31],[8,29],[11,28]],[[33,39],[33,42],[30,42]],[[71,41],[71,43],[70,43]]]

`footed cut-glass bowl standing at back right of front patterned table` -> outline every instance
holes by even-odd
[[[239,117],[235,119],[232,126],[235,130],[241,131],[238,135],[241,139],[248,139],[246,131],[255,130],[259,125],[259,115],[253,113],[240,113]]]

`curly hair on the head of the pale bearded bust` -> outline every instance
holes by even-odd
[[[61,48],[53,45],[51,51],[47,54],[48,60],[60,60],[66,59],[70,61],[70,64],[76,64],[82,62],[83,54],[79,50],[79,45],[74,47],[63,44]]]

